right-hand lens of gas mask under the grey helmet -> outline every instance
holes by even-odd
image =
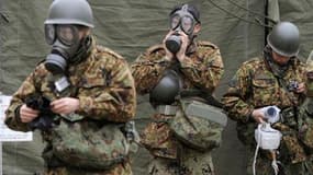
[[[79,40],[78,28],[74,25],[57,25],[58,39],[66,46],[71,46]]]

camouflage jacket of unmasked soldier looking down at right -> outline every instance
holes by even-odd
[[[282,109],[283,121],[280,120],[273,127],[282,131],[284,136],[282,140],[290,143],[287,147],[291,147],[289,150],[292,150],[292,153],[290,153],[292,155],[287,156],[302,161],[305,155],[297,140],[299,126],[297,115],[293,113],[293,106],[300,106],[305,96],[304,94],[288,91],[286,85],[280,84],[284,82],[288,85],[291,81],[303,83],[305,81],[305,66],[298,59],[293,59],[291,65],[282,78],[283,80],[278,80],[269,71],[264,58],[254,58],[244,62],[231,80],[230,88],[222,97],[222,102],[228,117],[237,121],[239,140],[251,148],[255,145],[254,130],[257,127],[257,124],[250,117],[253,110],[269,105],[278,106]],[[292,112],[291,116],[283,115],[290,114],[289,112]],[[282,145],[284,145],[284,142]],[[287,154],[283,151],[280,153]]]

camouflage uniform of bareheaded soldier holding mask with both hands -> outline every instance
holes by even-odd
[[[198,42],[189,47],[187,58],[180,62],[183,89],[202,89],[212,94],[224,68],[220,50],[209,42]],[[158,83],[163,73],[175,63],[165,59],[163,45],[147,49],[132,65],[136,90],[141,94],[149,93]],[[174,116],[155,114],[153,122],[144,129],[142,142],[155,156],[149,166],[150,174],[211,175],[214,174],[211,150],[198,152],[188,149],[174,137],[167,122]],[[201,162],[201,163],[199,163]]]

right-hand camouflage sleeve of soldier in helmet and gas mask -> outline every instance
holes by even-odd
[[[99,62],[107,70],[103,84],[97,84],[78,94],[78,114],[110,121],[124,122],[132,119],[136,108],[134,80],[124,59],[105,59]],[[99,71],[99,73],[102,71]],[[102,77],[98,74],[99,77]],[[89,88],[88,88],[89,89]]]

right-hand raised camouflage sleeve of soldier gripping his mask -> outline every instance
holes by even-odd
[[[186,56],[180,62],[181,71],[195,86],[208,90],[210,93],[217,86],[223,73],[224,65],[217,48],[204,50],[203,59],[193,59]]]

